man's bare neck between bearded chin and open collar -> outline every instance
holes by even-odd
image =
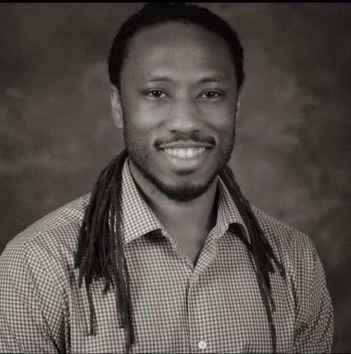
[[[187,235],[194,241],[206,238],[216,225],[216,192],[218,176],[203,195],[189,202],[178,202],[168,198],[151,185],[129,160],[129,169],[147,204],[159,218],[168,233],[177,239],[177,235]],[[180,237],[180,236],[179,236]]]

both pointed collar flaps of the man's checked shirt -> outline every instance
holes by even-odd
[[[223,235],[230,224],[237,223],[242,226],[244,235],[249,241],[249,235],[245,223],[234,204],[234,201],[223,181],[218,178],[219,199],[216,228],[218,235]],[[121,191],[121,231],[124,235],[124,244],[132,242],[154,230],[164,230],[159,218],[154,214],[150,206],[140,194],[131,171],[128,166],[128,158],[124,162],[122,170]]]

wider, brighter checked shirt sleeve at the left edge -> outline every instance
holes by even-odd
[[[66,351],[62,296],[39,258],[18,240],[0,257],[0,353]]]

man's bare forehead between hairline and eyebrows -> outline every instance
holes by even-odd
[[[131,39],[121,80],[140,81],[152,74],[176,80],[214,75],[235,80],[224,39],[197,25],[180,22],[147,27]]]

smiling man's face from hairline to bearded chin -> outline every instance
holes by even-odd
[[[237,81],[225,41],[179,22],[143,29],[120,94],[131,171],[179,202],[203,194],[234,144]]]

